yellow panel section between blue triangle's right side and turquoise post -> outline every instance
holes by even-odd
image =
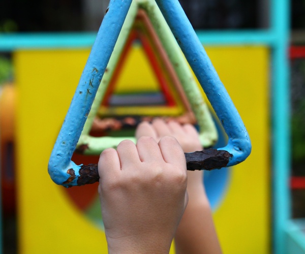
[[[249,158],[232,169],[223,203],[215,213],[224,253],[269,253],[269,50],[208,47],[206,51],[252,141]]]

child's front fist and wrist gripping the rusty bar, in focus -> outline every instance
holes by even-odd
[[[168,253],[184,213],[187,171],[172,137],[102,152],[99,193],[109,253]]]

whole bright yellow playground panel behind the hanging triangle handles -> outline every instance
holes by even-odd
[[[229,169],[221,185],[223,193],[214,208],[220,241],[224,253],[269,253],[269,50],[263,46],[206,50],[248,129],[253,146],[250,157]],[[95,208],[99,206],[97,185],[67,190],[54,184],[47,172],[51,150],[88,54],[89,49],[13,53],[18,96],[20,253],[107,253]],[[134,68],[139,54],[134,48],[119,86],[124,86],[124,82],[138,83],[141,76],[135,80],[138,76],[135,71],[149,77],[147,82],[154,85],[145,63]],[[220,179],[223,178],[216,175],[212,180]],[[77,202],[78,197],[87,202]]]

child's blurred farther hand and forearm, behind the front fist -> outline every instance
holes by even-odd
[[[191,124],[180,125],[156,119],[152,124],[141,123],[136,131],[137,138],[151,136],[159,140],[163,136],[177,139],[184,152],[202,150],[199,136]],[[175,234],[176,253],[222,253],[218,241],[211,209],[203,186],[203,171],[188,172],[189,202]]]

